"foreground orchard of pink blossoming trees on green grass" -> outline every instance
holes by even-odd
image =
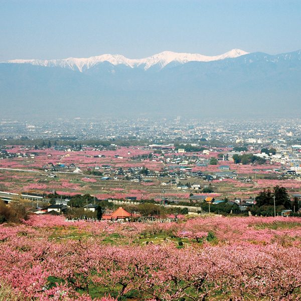
[[[2,300],[297,300],[299,218],[0,226]]]

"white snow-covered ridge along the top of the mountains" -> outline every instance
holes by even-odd
[[[191,53],[176,53],[171,51],[164,51],[162,53],[144,58],[144,59],[128,59],[122,55],[112,55],[104,54],[100,56],[94,56],[90,58],[68,58],[62,60],[11,60],[6,63],[14,64],[31,64],[35,66],[45,66],[45,67],[62,67],[69,68],[72,70],[79,70],[83,72],[90,69],[97,64],[103,62],[109,62],[112,65],[125,65],[130,68],[141,67],[144,70],[149,69],[152,66],[158,66],[160,69],[164,68],[166,65],[175,62],[178,64],[185,64],[188,62],[211,62],[218,61],[227,58],[237,58],[242,55],[248,54],[247,52],[240,49],[233,49],[227,53],[218,56],[205,56],[201,54],[191,54]]]

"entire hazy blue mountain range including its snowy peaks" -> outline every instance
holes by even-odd
[[[301,109],[301,51],[0,63],[0,117],[291,116]]]

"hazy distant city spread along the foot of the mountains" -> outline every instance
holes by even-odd
[[[190,142],[291,144],[301,139],[301,119],[74,118],[53,120],[1,119],[0,139],[148,139]]]

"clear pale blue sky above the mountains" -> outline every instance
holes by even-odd
[[[301,49],[301,1],[0,0],[0,61]]]

